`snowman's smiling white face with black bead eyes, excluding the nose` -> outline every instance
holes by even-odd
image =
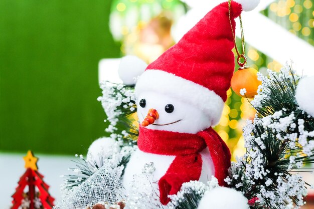
[[[149,109],[157,110],[159,118],[146,128],[181,133],[197,133],[211,126],[207,115],[196,106],[177,98],[143,92],[137,98],[137,115],[141,123]]]

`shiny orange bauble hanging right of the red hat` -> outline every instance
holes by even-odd
[[[261,81],[257,80],[257,70],[254,68],[239,68],[231,79],[231,88],[241,97],[253,98],[257,94],[259,85]],[[240,94],[241,89],[246,89],[245,95]]]

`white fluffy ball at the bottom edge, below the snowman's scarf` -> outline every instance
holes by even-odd
[[[247,198],[233,188],[217,187],[204,194],[198,209],[248,209]]]

